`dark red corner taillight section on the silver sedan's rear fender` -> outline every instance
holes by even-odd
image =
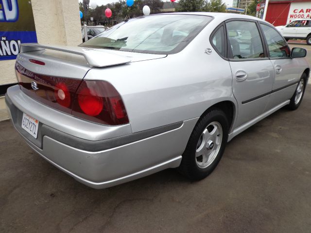
[[[81,83],[72,105],[72,115],[108,125],[129,122],[120,94],[105,81]]]

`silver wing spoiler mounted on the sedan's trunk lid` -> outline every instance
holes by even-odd
[[[39,50],[57,50],[84,56],[90,67],[109,67],[131,62],[127,57],[112,54],[106,51],[92,50],[78,46],[61,46],[61,45],[40,45],[37,43],[20,44],[20,52],[31,52]]]

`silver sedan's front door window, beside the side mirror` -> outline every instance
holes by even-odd
[[[272,27],[260,24],[267,41],[270,57],[290,57],[290,49],[283,37]]]

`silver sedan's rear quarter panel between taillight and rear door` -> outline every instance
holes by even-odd
[[[116,87],[133,133],[201,116],[220,101],[236,105],[229,63],[209,43],[210,33],[219,24],[212,22],[176,54],[93,68],[85,80],[105,80]],[[206,48],[212,53],[206,54]]]

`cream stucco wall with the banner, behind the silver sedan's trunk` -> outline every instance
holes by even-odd
[[[38,43],[82,43],[78,0],[31,0]],[[15,60],[0,61],[0,85],[17,83]]]

